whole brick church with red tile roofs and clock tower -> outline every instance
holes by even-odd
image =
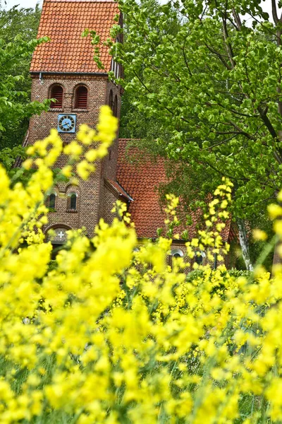
[[[103,42],[109,37],[114,18],[122,16],[118,4],[112,0],[44,0],[38,37],[48,36],[50,42],[37,47],[32,57],[32,100],[54,98],[47,112],[32,117],[25,141],[32,144],[58,129],[64,143],[73,140],[80,124],[96,126],[99,108],[109,105],[116,117],[121,111],[121,88],[109,81],[109,71],[116,76],[121,69],[109,56],[107,47],[101,49],[104,69],[93,61],[90,37],[82,37],[85,28],[95,30]],[[122,35],[121,35],[122,37]],[[122,41],[122,40],[121,40]],[[118,139],[109,154],[97,165],[97,171],[87,180],[73,184],[60,183],[47,199],[49,225],[56,235],[54,244],[66,240],[66,230],[85,227],[91,237],[100,218],[112,219],[111,208],[116,199],[128,205],[135,222],[137,236],[156,237],[157,228],[164,227],[164,212],[159,203],[157,187],[166,182],[164,160],[133,165],[128,160],[128,140]],[[63,167],[61,156],[56,167]],[[195,225],[188,228],[195,235]],[[223,238],[231,231],[226,228]],[[174,240],[172,254],[183,256],[185,241]]]

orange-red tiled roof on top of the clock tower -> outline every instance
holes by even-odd
[[[103,42],[118,13],[118,4],[111,0],[44,0],[38,37],[51,41],[37,47],[30,72],[109,72],[108,48],[100,47],[104,69],[98,69],[90,36],[81,34],[85,28],[95,30]]]

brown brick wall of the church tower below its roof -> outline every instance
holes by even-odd
[[[76,129],[80,124],[88,124],[93,128],[96,126],[99,116],[99,108],[109,104],[109,93],[113,91],[114,97],[118,98],[118,117],[121,109],[120,88],[109,81],[107,76],[94,75],[43,75],[43,80],[39,81],[39,75],[32,76],[32,100],[42,101],[50,97],[51,86],[54,84],[63,86],[63,107],[61,109],[50,109],[40,116],[30,119],[28,143],[32,144],[39,139],[44,139],[49,135],[51,128],[58,126],[58,114],[76,114]],[[75,109],[75,88],[79,84],[87,86],[87,110]],[[75,138],[75,134],[60,134],[63,142],[69,143]],[[104,188],[104,179],[116,180],[116,163],[118,155],[118,134],[116,141],[111,146],[111,153],[102,163],[97,163],[97,170],[86,182],[78,179],[78,186],[73,186],[71,181],[68,184],[59,184],[55,187],[56,207],[55,212],[49,213],[49,224],[47,229],[59,225],[68,225],[71,228],[85,227],[87,235],[93,235],[95,225],[99,218],[110,219],[110,211],[115,201],[115,196]],[[66,156],[61,155],[55,167],[66,165]],[[77,211],[68,210],[68,193],[76,192]]]

